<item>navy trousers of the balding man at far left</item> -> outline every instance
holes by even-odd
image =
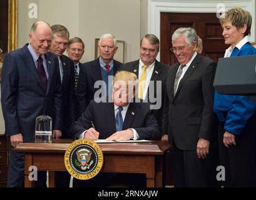
[[[24,187],[25,154],[13,149],[9,149],[9,154],[7,187]],[[46,187],[46,171],[38,171],[38,181],[34,181],[34,187]]]

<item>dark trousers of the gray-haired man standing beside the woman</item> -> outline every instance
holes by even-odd
[[[171,151],[173,182],[175,187],[218,187],[216,168],[218,151],[210,149],[207,158],[198,158],[197,151],[178,149]]]

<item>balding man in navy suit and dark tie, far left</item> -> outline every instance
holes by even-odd
[[[53,138],[61,137],[61,82],[58,59],[49,53],[51,28],[36,21],[29,32],[30,43],[6,55],[1,83],[6,136],[15,148],[19,143],[34,142],[35,122],[40,115],[53,118]],[[10,149],[8,187],[22,187],[24,153]],[[46,176],[42,185],[46,186]],[[38,173],[38,181],[40,176]]]

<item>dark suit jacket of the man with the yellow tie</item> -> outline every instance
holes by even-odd
[[[139,64],[140,64],[140,60],[122,64],[120,67],[120,71],[121,70],[130,71],[131,73],[135,73],[136,76],[138,77]],[[160,128],[161,128],[161,120],[162,120],[162,116],[163,116],[163,102],[164,102],[164,98],[165,98],[166,75],[167,75],[169,68],[170,68],[170,66],[160,63],[158,61],[155,61],[155,67],[154,67],[153,74],[150,79],[150,81],[154,82],[154,87],[151,90],[150,90],[150,87],[148,88],[147,96],[149,96],[149,95],[152,96],[152,93],[153,93],[154,96],[157,97],[158,101],[160,101],[160,104],[161,104],[160,109],[153,110],[153,114],[155,114]],[[161,81],[161,90],[156,90],[156,88],[157,88],[156,81]],[[155,103],[151,102],[150,99],[149,99],[149,102],[151,104],[155,104]]]

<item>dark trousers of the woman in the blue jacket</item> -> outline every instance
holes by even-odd
[[[248,121],[242,133],[235,136],[236,145],[223,144],[224,123],[218,129],[220,165],[225,168],[225,187],[256,187],[256,129],[255,118]],[[255,125],[254,125],[255,124]],[[252,125],[252,126],[251,126]]]

